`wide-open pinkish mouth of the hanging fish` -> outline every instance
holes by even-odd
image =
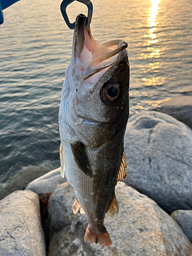
[[[93,38],[90,27],[86,28],[86,23],[87,17],[79,14],[73,37],[72,56],[75,74],[82,81],[103,69],[110,68],[127,53],[127,42],[124,40],[111,40],[100,45],[100,42]]]

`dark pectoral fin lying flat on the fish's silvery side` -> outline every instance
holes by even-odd
[[[82,170],[82,172],[89,176],[93,177],[93,173],[91,170],[91,166],[89,164],[89,160],[87,158],[86,153],[84,152],[82,148],[82,143],[80,141],[74,142],[71,144],[71,150],[73,153],[73,157],[75,160],[75,163],[77,164],[78,168]]]

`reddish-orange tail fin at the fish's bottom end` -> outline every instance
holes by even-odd
[[[86,229],[86,234],[84,235],[84,241],[89,244],[96,243],[96,244],[105,245],[105,246],[110,246],[112,244],[111,238],[109,236],[108,231],[106,231],[106,229],[103,234],[93,233],[89,230],[89,225]]]

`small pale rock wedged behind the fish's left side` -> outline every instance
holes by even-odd
[[[63,179],[61,177],[60,167],[59,167],[33,180],[27,185],[26,189],[32,190],[36,194],[41,194],[41,193],[47,194],[47,193],[52,193],[58,184],[66,181],[67,181],[66,178]]]

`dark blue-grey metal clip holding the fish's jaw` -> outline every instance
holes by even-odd
[[[70,23],[67,12],[66,12],[66,8],[67,8],[68,5],[70,5],[74,1],[75,0],[63,0],[61,5],[60,5],[60,10],[61,10],[62,16],[65,19],[65,22],[66,22],[66,24],[68,25],[68,27],[70,29],[75,28],[75,22]],[[90,0],[76,0],[76,1],[78,1],[82,4],[84,4],[84,5],[87,5],[87,7],[88,7],[88,22],[87,22],[87,25],[86,25],[86,28],[88,28],[90,26],[92,14],[93,14],[93,5],[92,5]]]

